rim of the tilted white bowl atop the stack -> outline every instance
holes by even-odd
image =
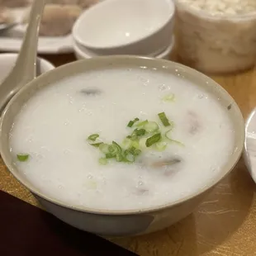
[[[161,25],[159,25],[156,29],[154,29],[154,31],[151,31],[150,33],[148,33],[147,36],[140,36],[137,39],[130,41],[129,43],[116,44],[116,45],[112,44],[112,45],[99,46],[99,45],[92,45],[88,42],[84,42],[84,40],[81,38],[80,34],[78,33],[78,27],[81,26],[81,22],[83,21],[84,17],[88,15],[88,12],[94,12],[95,9],[97,10],[98,8],[104,8],[105,5],[109,5],[111,4],[111,2],[115,2],[115,1],[116,0],[101,1],[101,2],[98,2],[96,5],[93,5],[92,7],[90,7],[88,10],[85,10],[73,24],[73,28],[72,28],[73,40],[78,42],[78,44],[83,45],[83,47],[88,48],[89,50],[96,50],[96,51],[97,50],[114,50],[114,49],[119,50],[125,47],[129,47],[131,45],[136,45],[140,43],[140,41],[148,40],[150,37],[154,36],[159,31],[164,29],[164,27],[167,26],[168,23],[173,20],[173,17],[175,14],[175,4],[173,0],[160,0],[160,1],[166,2],[166,5],[170,7],[169,9],[172,12],[170,12],[168,19],[166,19],[166,21],[164,21]],[[116,2],[119,2],[119,1],[116,1]]]

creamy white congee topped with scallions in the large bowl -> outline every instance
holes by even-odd
[[[48,197],[142,210],[198,192],[234,150],[230,107],[165,69],[97,69],[41,88],[16,116],[13,161]]]

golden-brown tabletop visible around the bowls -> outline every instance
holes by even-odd
[[[47,55],[56,66],[74,61],[73,55]],[[211,76],[235,98],[244,118],[256,103],[256,69]],[[0,189],[38,206],[31,193],[7,171],[0,159]],[[151,235],[111,239],[141,256],[256,255],[256,185],[243,159],[197,211],[178,224]]]

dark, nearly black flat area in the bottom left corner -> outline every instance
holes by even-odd
[[[2,256],[132,256],[97,235],[64,224],[49,213],[0,191]]]

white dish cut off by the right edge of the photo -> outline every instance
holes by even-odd
[[[244,162],[256,183],[256,108],[245,123]]]

